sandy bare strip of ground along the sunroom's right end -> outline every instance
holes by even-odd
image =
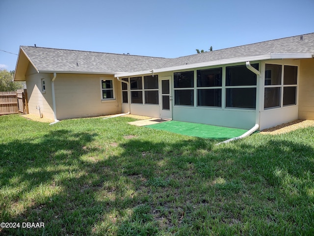
[[[296,119],[288,123],[280,124],[268,129],[262,130],[261,134],[284,134],[291,132],[293,130],[299,129],[299,128],[306,128],[309,126],[314,126],[314,120],[303,120],[303,119]]]

